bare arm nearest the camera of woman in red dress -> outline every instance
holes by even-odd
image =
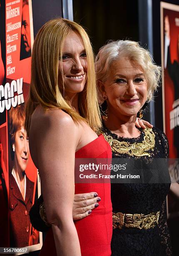
[[[80,243],[72,218],[78,129],[72,118],[62,110],[49,110],[38,126],[39,132],[34,138],[37,167],[57,255],[80,256]],[[32,144],[30,138],[30,148]]]

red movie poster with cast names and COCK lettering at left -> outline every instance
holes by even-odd
[[[33,40],[32,0],[0,0],[0,247],[29,251],[42,247],[29,218],[40,183],[24,129]]]

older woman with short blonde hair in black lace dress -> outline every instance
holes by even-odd
[[[165,166],[168,140],[158,128],[142,130],[135,126],[136,116],[142,117],[144,107],[159,86],[161,68],[154,64],[148,50],[129,40],[103,46],[95,64],[103,115],[98,133],[109,142],[116,161],[125,159],[126,163],[130,159],[129,164],[140,163],[137,168],[128,166],[122,173],[139,173],[138,182],[130,178],[111,184],[112,255],[171,255],[166,222],[169,172],[153,161],[163,158],[161,163]],[[154,172],[151,164],[158,166]]]

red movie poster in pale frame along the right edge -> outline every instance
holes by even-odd
[[[169,140],[169,171],[179,183],[179,5],[160,3],[162,101],[164,132]],[[168,198],[168,216],[179,215],[179,205]]]

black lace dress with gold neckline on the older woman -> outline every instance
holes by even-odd
[[[144,159],[147,165],[152,159],[162,158],[167,159],[169,156],[169,146],[165,134],[157,128],[140,130],[141,134],[137,138],[124,138],[109,131],[104,125],[100,130],[104,138],[109,142],[112,148],[112,157],[115,159],[129,158],[141,160]],[[152,134],[154,143],[152,146],[146,146],[151,143],[147,141],[147,132],[149,136]],[[127,148],[127,151],[120,152],[120,148],[116,143],[127,142],[128,146],[133,144],[133,147]],[[135,148],[135,143],[139,143]],[[125,143],[124,143],[125,144]],[[146,144],[146,145],[143,145]],[[141,146],[142,145],[142,146]],[[126,145],[124,145],[126,146]],[[143,151],[139,150],[143,147]],[[136,151],[135,151],[136,150]],[[164,160],[165,161],[165,160]],[[167,161],[167,160],[166,160]],[[146,167],[146,166],[145,166]],[[144,169],[146,169],[144,167]],[[160,166],[161,167],[161,166]],[[162,177],[161,170],[158,178]],[[149,171],[145,172],[150,176]],[[144,174],[145,175],[145,174]],[[143,175],[143,176],[144,176]],[[167,169],[167,175],[168,169]],[[166,176],[166,174],[165,174]],[[149,178],[149,177],[148,177]],[[147,178],[147,180],[148,180]],[[112,256],[170,256],[172,249],[170,246],[169,232],[167,228],[167,213],[166,213],[166,196],[170,188],[169,182],[145,182],[145,177],[142,183],[112,183],[111,184],[111,199],[113,212],[144,214],[148,215],[151,212],[160,211],[158,224],[154,228],[139,229],[126,228],[113,229],[112,234]]]

